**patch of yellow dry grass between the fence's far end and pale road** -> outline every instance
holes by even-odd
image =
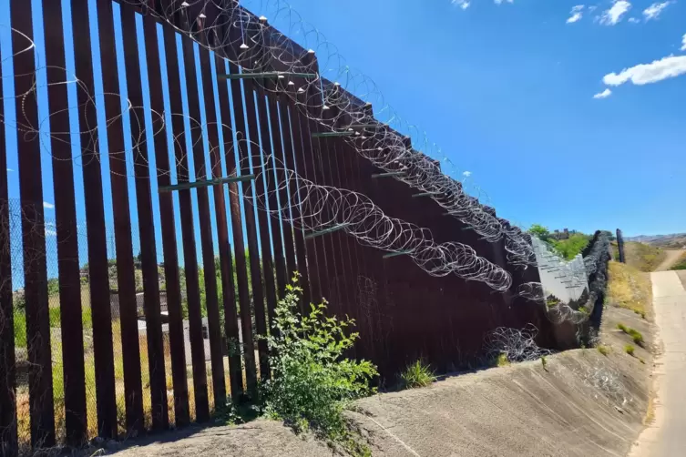
[[[647,273],[619,262],[609,262],[606,302],[645,317],[650,309],[652,283]]]

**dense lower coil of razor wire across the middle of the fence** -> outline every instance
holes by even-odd
[[[455,274],[467,280],[485,282],[492,289],[505,291],[512,285],[510,274],[496,264],[476,255],[470,246],[457,242],[436,243],[429,229],[423,229],[402,219],[391,218],[381,208],[359,192],[331,186],[320,186],[285,168],[274,157],[246,157],[248,163],[271,164],[265,171],[254,167],[253,190],[249,199],[256,199],[260,208],[275,218],[289,222],[297,229],[321,232],[341,229],[364,246],[409,256],[415,264],[432,276]],[[274,171],[280,180],[274,178]],[[285,188],[298,188],[297,193],[280,208],[269,208],[268,201]],[[265,190],[266,189],[266,190]]]

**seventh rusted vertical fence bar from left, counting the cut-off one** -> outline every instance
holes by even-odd
[[[149,16],[143,18],[146,57],[148,59],[148,90],[150,108],[164,111],[162,94],[162,73],[158,47],[157,23]],[[171,126],[166,126],[171,128]],[[166,132],[164,132],[166,133]],[[155,136],[155,158],[158,187],[169,186],[169,145],[167,136]],[[159,218],[161,222],[162,250],[164,254],[164,277],[167,285],[167,310],[169,313],[169,356],[174,388],[174,420],[177,427],[183,427],[189,419],[189,384],[186,379],[186,351],[183,340],[183,316],[181,312],[181,290],[179,277],[179,255],[177,250],[174,205],[169,192],[159,193]]]

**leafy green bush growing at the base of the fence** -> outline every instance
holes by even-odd
[[[286,289],[267,337],[273,376],[262,386],[266,412],[296,432],[312,428],[331,442],[354,448],[343,410],[375,392],[369,382],[378,374],[376,367],[343,357],[359,337],[347,331],[353,320],[327,317],[324,303],[310,305],[309,314],[302,316],[297,311],[302,296],[297,275]]]

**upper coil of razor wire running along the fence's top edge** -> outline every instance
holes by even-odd
[[[437,162],[426,155],[434,152],[432,156],[445,157],[440,149],[428,142],[416,127],[406,124],[385,103],[374,81],[346,66],[335,46],[304,23],[285,2],[249,0],[244,3],[253,11],[269,15],[275,23],[285,25],[285,33],[269,25],[267,17],[251,14],[236,1],[170,1],[160,3],[157,8],[148,7],[144,0],[123,3],[175,27],[179,33],[241,66],[243,73],[280,72],[281,84],[262,85],[259,79],[255,83],[264,90],[287,94],[302,114],[323,128],[349,132],[344,138],[359,154],[386,171],[404,170],[404,176],[394,178],[429,193],[449,214],[484,239],[494,242],[505,237],[507,257],[513,264],[535,265],[521,232],[504,228],[495,214],[477,198],[466,194],[462,183],[446,176],[445,168],[454,167],[452,162],[445,158]],[[372,117],[371,107],[377,116],[386,119],[385,124]],[[400,131],[408,132],[410,137]]]

